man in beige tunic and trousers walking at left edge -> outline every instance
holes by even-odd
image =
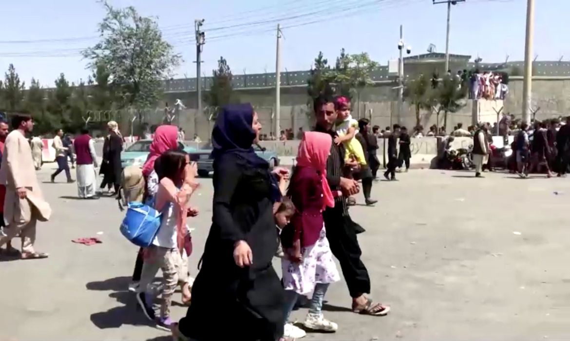
[[[34,249],[36,222],[47,221],[51,215],[50,205],[44,201],[38,184],[30,144],[25,136],[34,128],[34,121],[30,116],[16,115],[12,127],[14,130],[6,137],[0,167],[0,184],[6,186],[6,236],[0,237],[0,246],[19,234],[22,259],[46,258],[46,253]]]

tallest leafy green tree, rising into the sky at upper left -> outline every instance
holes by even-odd
[[[83,51],[93,70],[104,65],[122,106],[146,108],[157,103],[161,80],[172,74],[181,56],[162,38],[153,18],[143,17],[132,6],[107,11],[99,24],[100,41]]]

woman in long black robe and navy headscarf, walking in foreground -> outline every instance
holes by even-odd
[[[212,226],[192,305],[172,328],[177,340],[275,341],[283,334],[283,288],[271,265],[278,247],[272,208],[281,193],[251,148],[260,129],[250,104],[227,105],[216,120]]]

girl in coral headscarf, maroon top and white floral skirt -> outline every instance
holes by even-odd
[[[339,281],[323,222],[323,210],[335,205],[325,169],[331,151],[331,136],[306,132],[299,144],[297,165],[288,195],[296,211],[281,233],[285,257],[281,261],[285,289],[284,337],[302,338],[306,333],[287,323],[299,295],[313,293],[304,326],[334,332],[338,326],[323,317],[321,308],[329,283]]]

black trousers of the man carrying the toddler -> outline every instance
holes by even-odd
[[[348,292],[352,298],[370,293],[370,277],[368,270],[361,261],[362,251],[351,217],[343,217],[343,208],[337,205],[323,212],[324,225],[327,229],[327,239],[332,254],[339,260]]]

